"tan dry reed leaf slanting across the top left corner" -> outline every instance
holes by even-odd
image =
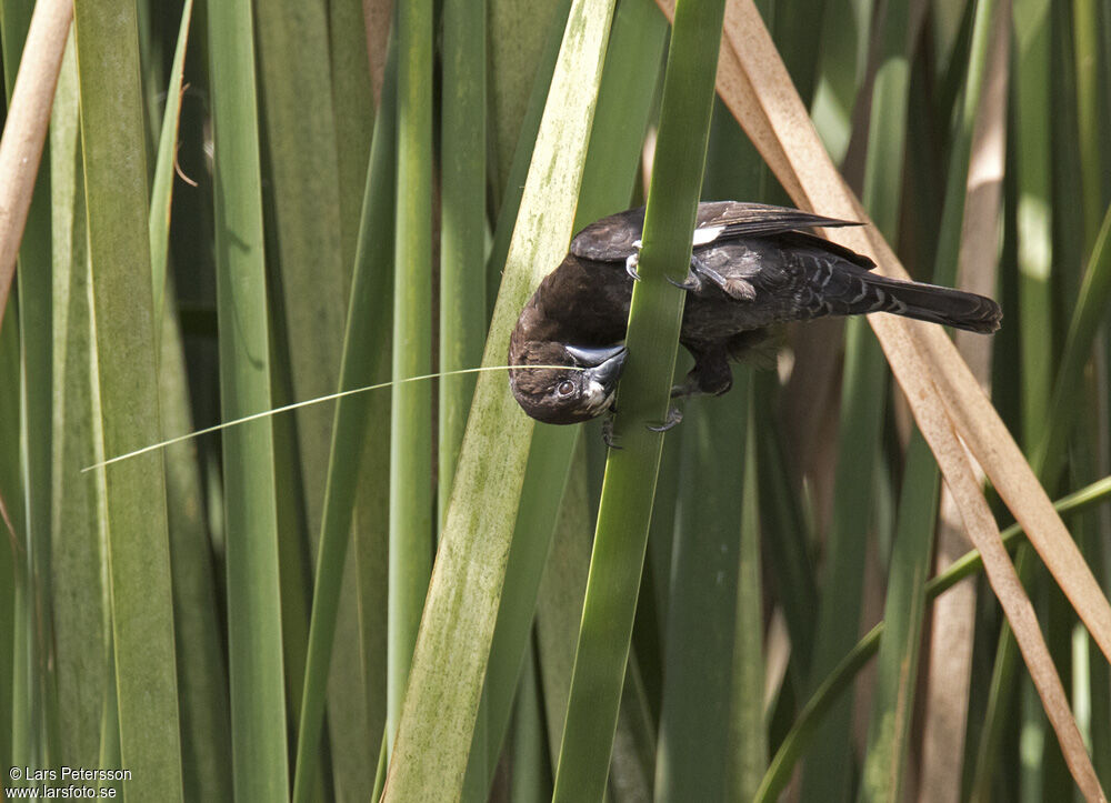
[[[0,138],[0,322],[47,140],[54,87],[66,52],[73,0],[39,0],[23,44],[8,121]]]

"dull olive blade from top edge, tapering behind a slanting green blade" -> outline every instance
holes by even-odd
[[[336,389],[350,264],[342,262],[339,163],[324,3],[273,2],[256,14],[268,165],[293,399]],[[291,53],[298,58],[290,58]],[[331,411],[299,410],[306,513],[320,521]]]

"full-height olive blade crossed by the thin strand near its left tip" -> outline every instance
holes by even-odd
[[[76,26],[103,452],[118,454],[161,431],[134,4],[81,3]],[[181,800],[162,461],[103,476],[120,761],[142,779],[127,794]]]

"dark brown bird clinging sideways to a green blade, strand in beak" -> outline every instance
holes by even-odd
[[[510,371],[513,395],[538,421],[572,424],[612,405],[643,225],[643,208],[588,225],[521,311],[509,364],[567,367]],[[867,257],[803,231],[840,225],[859,223],[762,203],[699,204],[690,272],[679,284],[688,291],[679,342],[694,368],[672,397],[724,393],[730,361],[790,321],[890,312],[972,332],[999,329],[991,299],[879,275]]]

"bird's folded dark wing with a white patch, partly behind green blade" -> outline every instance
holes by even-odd
[[[860,225],[787,207],[742,201],[700,203],[694,222],[694,248],[742,237],[767,237],[815,227]],[[602,218],[575,234],[571,253],[580,259],[621,262],[634,253],[644,228],[644,208]]]

